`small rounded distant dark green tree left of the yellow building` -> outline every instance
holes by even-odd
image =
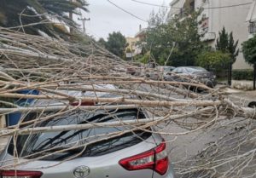
[[[125,55],[125,48],[128,46],[125,36],[120,32],[113,32],[108,34],[108,40],[105,44],[106,49],[121,58]]]

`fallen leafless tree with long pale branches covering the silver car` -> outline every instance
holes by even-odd
[[[255,161],[255,145],[242,154],[230,152],[224,159],[216,156],[228,152],[227,149],[247,145],[249,141],[253,141],[256,130],[249,125],[254,123],[256,118],[255,109],[236,105],[219,89],[210,89],[195,80],[189,80],[187,83],[154,81],[145,78],[143,72],[138,77],[130,76],[126,74],[125,69],[136,66],[119,59],[93,41],[89,45],[67,43],[0,28],[0,54],[0,114],[3,116],[15,112],[22,113],[18,124],[0,129],[0,138],[6,135],[14,135],[16,138],[18,135],[35,135],[60,130],[125,127],[125,131],[94,137],[99,137],[97,141],[101,141],[125,133],[134,133],[135,130],[145,130],[178,139],[178,136],[182,135],[203,135],[219,129],[219,125],[221,128],[230,129],[236,127],[233,120],[241,119],[247,122],[244,128],[249,130],[249,134],[242,135],[239,142],[232,141],[230,146],[224,144],[228,137],[223,136],[205,150],[201,150],[203,157],[187,159],[191,160],[193,167],[191,164],[177,163],[177,173],[183,177],[230,177],[232,174],[243,175],[240,166],[247,166],[243,164],[248,158],[247,155]],[[195,93],[189,89],[192,87],[203,89],[204,92]],[[25,89],[37,90],[39,95],[19,93]],[[28,105],[27,99],[35,100],[36,104]],[[25,100],[27,105],[19,106],[19,100]],[[147,112],[149,117],[125,121],[117,118],[117,121],[110,123],[88,122],[38,127],[38,123],[58,119],[71,112],[104,111],[111,115],[119,109],[132,108]],[[32,112],[38,112],[38,117],[29,121],[24,120]],[[170,125],[178,126],[182,130],[168,130]],[[157,129],[148,129],[151,126]],[[90,141],[91,138],[83,138],[86,139],[88,143],[76,143],[76,146],[69,149],[85,149],[94,142]],[[168,141],[166,137],[166,142]],[[221,147],[218,146],[217,149],[216,145],[219,143]],[[65,149],[56,152],[65,152]],[[40,157],[34,155],[30,161],[37,159]],[[227,172],[231,169],[223,169],[222,166],[233,163],[234,160],[241,164],[232,164],[234,172],[229,175]],[[24,164],[17,160],[14,163]],[[14,165],[5,168],[10,166]],[[220,167],[222,169],[218,169]]]

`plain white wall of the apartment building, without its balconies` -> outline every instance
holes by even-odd
[[[183,3],[183,0],[180,0],[179,2]],[[252,2],[253,0],[207,0],[206,3],[203,3],[203,0],[195,0],[195,8],[224,7]],[[251,68],[251,66],[247,65],[241,52],[241,43],[246,41],[249,37],[248,22],[246,22],[246,19],[250,7],[251,4],[224,9],[204,9],[202,13],[206,14],[209,18],[208,32],[215,33],[216,35],[215,40],[209,42],[212,47],[215,47],[218,32],[221,31],[223,27],[226,28],[227,32],[233,32],[235,40],[239,40],[240,53],[233,66],[234,69]],[[174,9],[172,14],[175,12],[177,12],[177,10]]]

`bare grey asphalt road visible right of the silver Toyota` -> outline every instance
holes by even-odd
[[[226,97],[240,104],[241,106],[247,106],[247,104],[253,100],[256,101],[256,91],[241,91],[236,89],[224,89],[227,92]],[[219,122],[212,129],[201,129],[195,133],[189,133],[188,135],[166,135],[164,136],[166,141],[170,141],[168,144],[169,158],[176,170],[180,169],[180,165],[186,164],[188,160],[194,159],[201,151],[203,151],[210,143],[218,141],[224,135],[234,133],[236,128],[240,128],[246,123],[241,118],[232,118],[230,121]],[[239,121],[239,122],[237,122]],[[227,123],[231,124],[227,124]],[[229,127],[226,127],[229,125]],[[171,133],[184,133],[188,132],[188,129],[182,129],[176,123],[168,124],[163,131]]]

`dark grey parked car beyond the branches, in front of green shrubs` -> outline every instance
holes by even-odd
[[[189,79],[195,79],[211,88],[216,85],[216,76],[201,66],[180,66],[173,69],[172,73],[166,80],[188,82]]]

